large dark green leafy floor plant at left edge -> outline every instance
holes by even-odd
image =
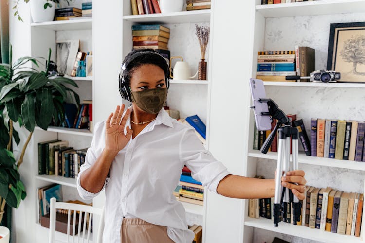
[[[39,68],[41,58],[22,57],[12,64],[11,46],[9,55],[10,64],[0,64],[0,222],[5,203],[18,208],[26,197],[18,169],[35,126],[47,130],[51,121],[62,122],[66,99],[73,97],[80,103],[79,96],[70,88],[78,87],[72,79],[47,74],[51,49],[45,71],[40,72],[24,64],[32,62]],[[18,161],[11,151],[13,139],[17,144],[20,142],[13,126],[16,122],[30,132]]]

